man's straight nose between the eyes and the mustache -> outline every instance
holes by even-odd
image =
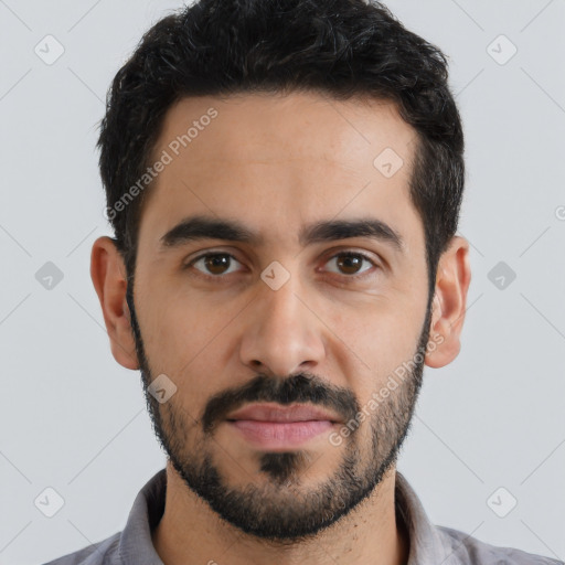
[[[259,281],[241,342],[241,360],[253,370],[286,376],[311,371],[326,355],[323,323],[309,305],[298,277],[278,290]]]

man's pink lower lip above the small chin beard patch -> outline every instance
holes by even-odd
[[[247,440],[266,448],[291,447],[303,444],[331,429],[330,420],[259,422],[238,419],[228,422]]]

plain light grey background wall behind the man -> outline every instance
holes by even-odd
[[[121,530],[164,466],[139,373],[110,354],[88,269],[93,241],[110,234],[94,148],[106,89],[142,32],[179,6],[0,0],[2,564],[43,563]],[[565,2],[388,6],[450,56],[473,270],[462,351],[426,370],[398,469],[435,523],[564,559]],[[34,53],[47,34],[65,49],[52,65]],[[491,54],[505,58],[510,44],[488,50],[500,34],[518,47],[504,65]],[[46,262],[64,275],[51,290],[35,278]],[[516,274],[503,289],[489,279],[499,262]],[[47,487],[64,499],[51,519],[34,505]],[[500,487],[518,500],[505,518],[487,503]]]

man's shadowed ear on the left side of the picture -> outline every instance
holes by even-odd
[[[114,359],[126,369],[139,369],[126,301],[126,266],[110,237],[98,237],[94,242],[90,278],[100,301]]]

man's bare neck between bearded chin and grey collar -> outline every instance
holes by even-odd
[[[406,565],[409,537],[396,520],[395,473],[393,467],[356,509],[311,540],[276,544],[222,520],[169,462],[164,513],[152,542],[166,565]]]

